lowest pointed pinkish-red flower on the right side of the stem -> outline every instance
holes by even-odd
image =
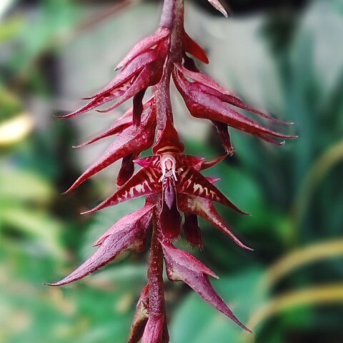
[[[162,248],[166,262],[166,274],[169,280],[182,281],[188,284],[202,299],[232,319],[239,327],[250,332],[244,324],[239,322],[232,310],[229,309],[223,299],[214,291],[207,277],[208,275],[216,277],[211,270],[191,254],[175,248],[170,243],[164,242]]]

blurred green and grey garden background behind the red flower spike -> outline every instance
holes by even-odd
[[[91,254],[94,239],[141,200],[79,215],[114,190],[118,166],[61,192],[111,139],[75,151],[118,113],[64,121],[78,99],[154,31],[161,1],[0,1],[0,342],[126,342],[146,282],[148,252],[123,255],[71,287],[54,282]],[[220,207],[254,252],[206,222],[194,254],[254,330],[244,334],[181,283],[166,283],[174,343],[343,342],[343,1],[232,0],[224,19],[187,1],[187,30],[204,46],[204,70],[244,100],[294,121],[299,139],[264,144],[232,131],[236,154],[209,171],[242,209]],[[187,152],[222,149],[209,123],[175,95]],[[190,249],[180,241],[179,245]]]

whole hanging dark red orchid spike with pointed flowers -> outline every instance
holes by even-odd
[[[217,0],[209,2],[226,14]],[[66,192],[71,192],[89,177],[121,159],[116,179],[119,188],[109,199],[84,213],[93,213],[142,196],[146,199],[144,207],[114,224],[96,241],[96,252],[84,264],[60,282],[51,284],[61,286],[82,279],[104,267],[122,252],[142,252],[149,227],[152,227],[148,283],[136,307],[129,343],[139,342],[140,339],[144,343],[169,342],[162,278],[164,264],[170,281],[188,284],[209,304],[249,331],[214,291],[209,277],[217,275],[191,254],[177,249],[174,241],[183,233],[192,246],[202,248],[202,233],[197,221],[199,216],[230,237],[239,247],[250,249],[234,236],[213,202],[245,213],[214,186],[217,179],[204,177],[202,171],[233,153],[228,126],[273,144],[283,144],[282,139],[295,138],[268,129],[245,116],[240,110],[279,124],[288,124],[244,104],[237,96],[199,71],[194,58],[208,63],[205,51],[184,30],[184,1],[164,0],[159,29],[131,49],[116,67],[119,70],[116,78],[91,96],[88,104],[64,116],[78,116],[116,100],[109,109],[98,110],[111,111],[124,101],[133,99],[132,108],[106,132],[80,145],[85,146],[116,135],[109,149]],[[171,79],[190,114],[209,119],[217,128],[226,151],[224,156],[214,161],[205,161],[201,157],[184,154],[184,144],[174,128],[169,90]],[[148,88],[151,89],[151,96],[144,101]],[[139,158],[141,152],[151,146],[153,156]],[[135,165],[141,167],[136,173]]]

